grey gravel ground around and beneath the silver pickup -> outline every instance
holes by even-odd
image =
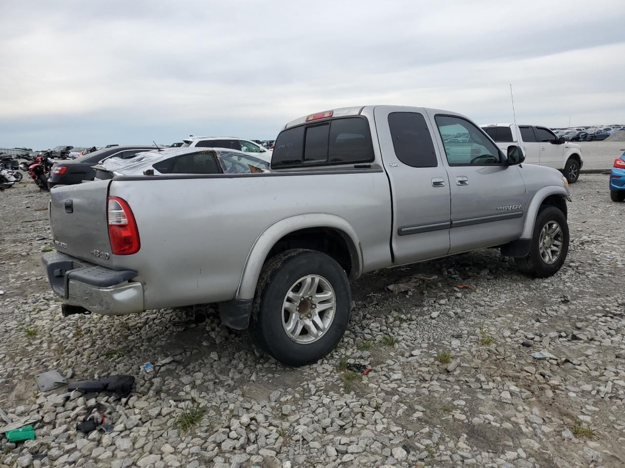
[[[367,274],[339,348],[293,369],[214,314],[182,331],[180,310],[63,318],[39,261],[47,194],[21,183],[0,193],[0,408],[36,439],[0,439],[0,467],[624,467],[625,204],[606,185],[572,185],[558,275],[495,250]],[[385,290],[417,273],[437,278]],[[113,432],[76,431],[94,401],[37,391],[53,369],[136,377],[131,397],[97,397]]]

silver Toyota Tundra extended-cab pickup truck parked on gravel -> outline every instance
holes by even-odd
[[[569,248],[562,174],[453,112],[307,115],[278,135],[271,172],[223,173],[211,157],[173,152],[51,190],[43,262],[65,315],[219,303],[224,324],[300,366],[341,339],[347,278],[486,247],[549,276]]]

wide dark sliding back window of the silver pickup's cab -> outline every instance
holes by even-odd
[[[353,164],[373,159],[367,120],[347,117],[282,131],[274,146],[271,166]]]

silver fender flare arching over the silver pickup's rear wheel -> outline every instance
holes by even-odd
[[[239,281],[236,298],[251,300],[256,293],[256,283],[261,275],[269,251],[278,240],[295,231],[306,228],[331,228],[343,236],[349,248],[352,261],[352,278],[357,278],[362,271],[362,249],[354,228],[343,218],[329,213],[306,213],[283,218],[267,227],[254,241],[247,254],[247,260]]]

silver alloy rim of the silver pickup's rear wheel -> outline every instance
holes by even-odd
[[[282,303],[282,327],[299,344],[309,344],[326,334],[334,320],[336,296],[326,278],[306,275],[289,288]]]

